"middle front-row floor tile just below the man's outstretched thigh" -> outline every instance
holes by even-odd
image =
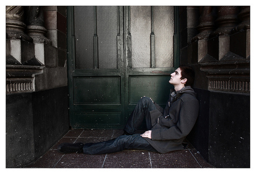
[[[108,154],[104,168],[151,168],[147,151],[122,151]]]

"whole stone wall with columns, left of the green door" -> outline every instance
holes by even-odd
[[[6,6],[6,167],[69,130],[66,7]]]

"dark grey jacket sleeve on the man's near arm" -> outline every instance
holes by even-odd
[[[196,99],[182,101],[177,124],[169,128],[161,126],[153,129],[152,140],[174,140],[187,136],[195,125],[198,112],[199,103]]]

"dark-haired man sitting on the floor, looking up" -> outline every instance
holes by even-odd
[[[108,154],[125,149],[167,153],[183,150],[183,140],[194,127],[199,112],[199,102],[191,88],[195,72],[188,65],[180,65],[170,74],[170,90],[165,109],[153,102],[151,98],[141,97],[124,127],[124,134],[108,141],[96,143],[61,143],[60,153]],[[135,134],[143,119],[147,131]]]

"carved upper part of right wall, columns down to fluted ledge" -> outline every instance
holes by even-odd
[[[249,11],[248,7],[200,7],[199,34],[188,44],[188,60],[193,63],[198,58],[200,70],[207,72],[208,90],[250,92]]]

